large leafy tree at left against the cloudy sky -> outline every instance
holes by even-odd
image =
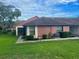
[[[5,5],[0,2],[0,23],[3,30],[13,26],[13,20],[21,16],[21,11],[12,5]]]

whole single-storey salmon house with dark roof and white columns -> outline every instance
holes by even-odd
[[[34,35],[35,38],[41,38],[48,33],[71,32],[79,35],[78,18],[51,18],[51,17],[32,17],[20,25],[16,26],[16,35]]]

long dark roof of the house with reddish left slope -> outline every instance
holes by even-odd
[[[33,17],[28,19],[22,25],[34,25],[34,26],[41,26],[41,25],[79,25],[79,18],[52,18],[52,17]]]

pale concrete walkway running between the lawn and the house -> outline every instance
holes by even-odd
[[[75,39],[79,39],[79,37],[42,39],[42,40],[35,40],[35,41],[23,41],[23,39],[18,39],[16,43],[34,43],[34,42],[44,42],[44,41],[75,40]]]

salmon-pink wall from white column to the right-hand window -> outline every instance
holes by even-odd
[[[56,26],[39,26],[37,27],[38,28],[38,37],[42,37],[42,35],[44,34],[49,34],[49,33],[52,33],[52,34],[55,34],[56,33]]]

